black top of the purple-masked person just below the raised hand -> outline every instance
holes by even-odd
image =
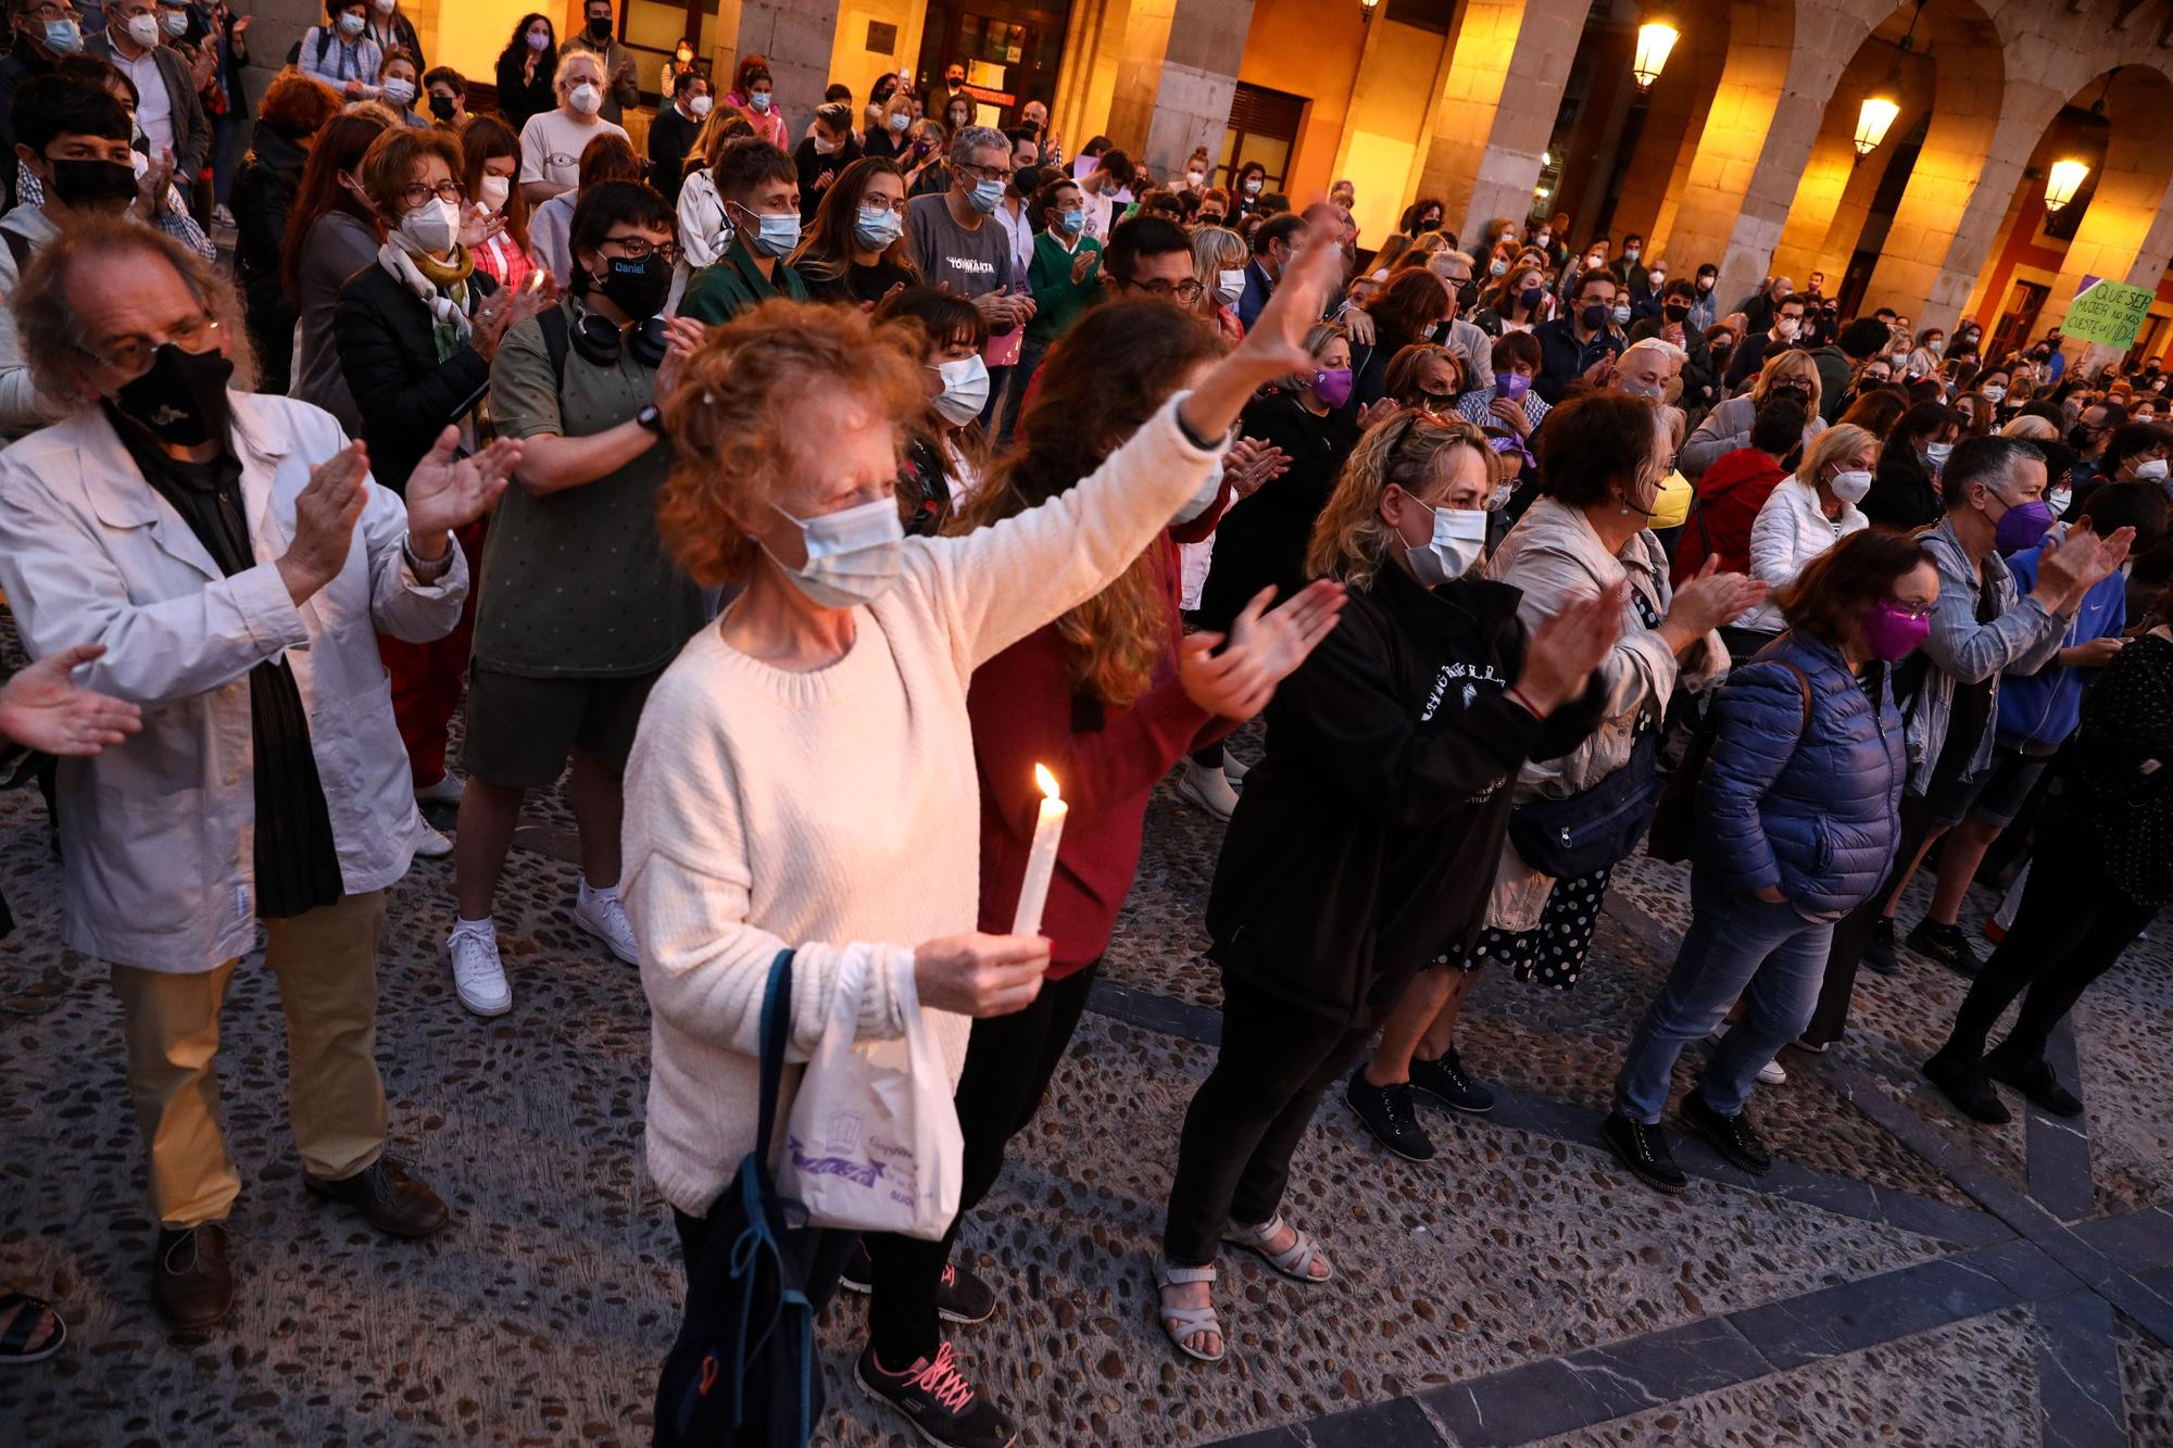
[[[1282,448],[1291,470],[1252,498],[1230,504],[1215,524],[1215,561],[1199,589],[1199,626],[1228,628],[1230,620],[1267,585],[1289,598],[1306,583],[1306,541],[1343,459],[1358,446],[1358,424],[1339,411],[1315,417],[1293,394],[1278,391],[1245,404],[1245,437]]]

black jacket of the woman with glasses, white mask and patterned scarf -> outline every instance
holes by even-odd
[[[491,291],[498,291],[498,283],[472,272],[469,311]],[[445,424],[459,422],[482,400],[491,363],[472,346],[439,361],[430,309],[380,265],[363,267],[339,289],[332,339],[339,344],[339,370],[363,415],[369,476],[395,494],[406,491],[406,476],[437,444]]]

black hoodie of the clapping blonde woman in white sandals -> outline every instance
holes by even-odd
[[[1525,759],[1599,726],[1602,696],[1534,720],[1521,594],[1423,589],[1384,565],[1267,707],[1208,896],[1232,978],[1336,1024],[1378,1020],[1412,974],[1460,959],[1486,920]]]

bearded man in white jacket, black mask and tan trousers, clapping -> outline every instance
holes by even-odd
[[[126,217],[72,217],[15,317],[65,415],[0,457],[0,587],[33,659],[100,646],[83,685],[143,711],[141,735],[61,765],[61,939],[109,968],[122,1007],[152,1300],[204,1331],[233,1305],[241,1191],[219,1009],[259,924],[302,1185],[395,1237],[448,1220],[385,1154],[376,954],[419,817],[378,633],[459,622],[452,530],[504,489],[519,444],[456,461],[448,426],[406,498],[378,487],[328,413],[248,391],[233,285]]]

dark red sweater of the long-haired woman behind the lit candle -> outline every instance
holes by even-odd
[[[1213,517],[1213,513],[1210,513]],[[1197,526],[1197,524],[1195,524]],[[1041,813],[1034,765],[1056,774],[1071,811],[1056,850],[1041,933],[1050,937],[1050,978],[1060,981],[1102,957],[1117,911],[1139,874],[1147,796],[1169,767],[1234,728],[1184,696],[1178,683],[1176,548],[1156,544],[1169,602],[1169,641],[1154,683],[1128,709],[1106,709],[1071,681],[1071,650],[1047,624],[974,672],[967,713],[980,767],[980,928],[1008,933],[1019,881]]]

